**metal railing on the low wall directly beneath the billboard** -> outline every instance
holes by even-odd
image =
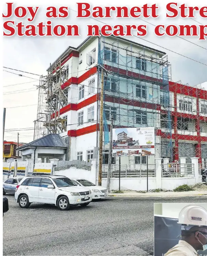
[[[102,165],[102,178],[107,178],[108,164]],[[148,164],[148,177],[155,177],[155,165]],[[146,178],[147,164],[121,164],[120,165],[121,178]],[[119,178],[119,164],[111,165],[111,178]]]

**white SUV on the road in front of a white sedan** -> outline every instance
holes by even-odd
[[[92,200],[89,188],[58,175],[25,177],[16,186],[14,197],[21,208],[28,208],[31,203],[51,203],[62,211],[71,205],[87,206]]]

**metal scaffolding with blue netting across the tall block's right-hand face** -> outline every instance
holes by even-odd
[[[172,134],[170,118],[169,81],[171,66],[167,56],[144,47],[126,46],[122,40],[110,41],[101,37],[99,65],[106,70],[104,86],[104,112],[109,118],[113,115],[114,128],[155,127],[155,157],[161,151],[172,159]],[[163,54],[162,54],[163,55]],[[167,125],[161,127],[160,113],[162,102]],[[161,140],[161,130],[167,136]],[[105,132],[105,137],[106,137]],[[165,145],[165,147],[162,146]],[[162,146],[162,147],[161,147]],[[105,143],[104,152],[109,149]]]

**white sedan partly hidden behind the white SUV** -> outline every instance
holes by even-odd
[[[100,199],[108,197],[108,190],[105,187],[96,186],[86,179],[71,178],[71,180],[82,187],[87,187],[92,191],[92,199]]]

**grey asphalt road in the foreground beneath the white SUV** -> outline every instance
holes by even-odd
[[[64,212],[43,204],[22,209],[6,197],[3,255],[153,255],[153,203],[207,199],[109,197]]]

